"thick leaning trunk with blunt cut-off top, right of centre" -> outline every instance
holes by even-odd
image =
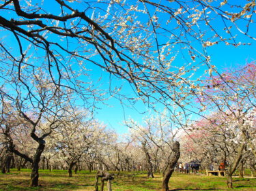
[[[177,164],[177,160],[180,158],[180,143],[175,142],[173,144],[173,154],[169,157],[169,163],[167,165],[167,169],[165,170],[164,177],[162,179],[162,191],[169,191],[168,183],[169,179],[174,171],[175,164]]]

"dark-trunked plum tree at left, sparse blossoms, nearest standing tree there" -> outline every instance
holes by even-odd
[[[31,181],[30,186],[38,186],[38,164],[40,156],[44,151],[45,138],[51,135],[54,128],[61,124],[61,118],[66,111],[71,107],[72,98],[71,91],[65,91],[64,88],[55,89],[55,84],[48,78],[47,73],[44,73],[41,68],[37,68],[34,73],[30,73],[29,69],[24,69],[23,77],[27,79],[26,85],[16,78],[16,73],[11,72],[3,74],[5,86],[1,87],[1,97],[3,98],[1,105],[9,103],[11,105],[12,114],[9,116],[17,120],[8,128],[7,133],[3,133],[5,143],[8,144],[10,152],[24,158],[31,163]],[[2,113],[5,112],[5,107],[2,108]],[[4,110],[5,109],[5,110]],[[7,113],[8,114],[8,113]],[[65,115],[67,115],[66,113]],[[1,116],[4,117],[4,116]],[[8,120],[12,122],[13,120]],[[16,146],[20,144],[18,141],[13,141],[15,135],[22,136],[25,139],[22,131],[18,131],[16,126],[22,126],[23,132],[29,133],[30,144],[36,145],[32,156],[26,150],[20,150],[22,147]],[[15,131],[12,129],[15,128]]]

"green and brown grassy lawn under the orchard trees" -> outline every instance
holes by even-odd
[[[12,169],[11,173],[0,174],[0,190],[94,190],[95,173],[88,171],[78,172],[73,177],[67,177],[67,171],[41,170],[38,188],[28,188],[29,169],[22,169],[21,172]],[[115,177],[112,181],[112,190],[119,191],[160,191],[162,177],[156,174],[154,179],[147,179],[147,175],[136,175],[132,177],[123,174]],[[105,183],[106,184],[106,183]],[[256,179],[233,179],[233,190],[256,191]],[[100,186],[99,186],[100,188]],[[169,181],[169,188],[172,191],[181,190],[230,190],[226,188],[225,177],[206,177],[204,175],[184,175],[173,173]],[[107,190],[106,186],[104,190]]]

